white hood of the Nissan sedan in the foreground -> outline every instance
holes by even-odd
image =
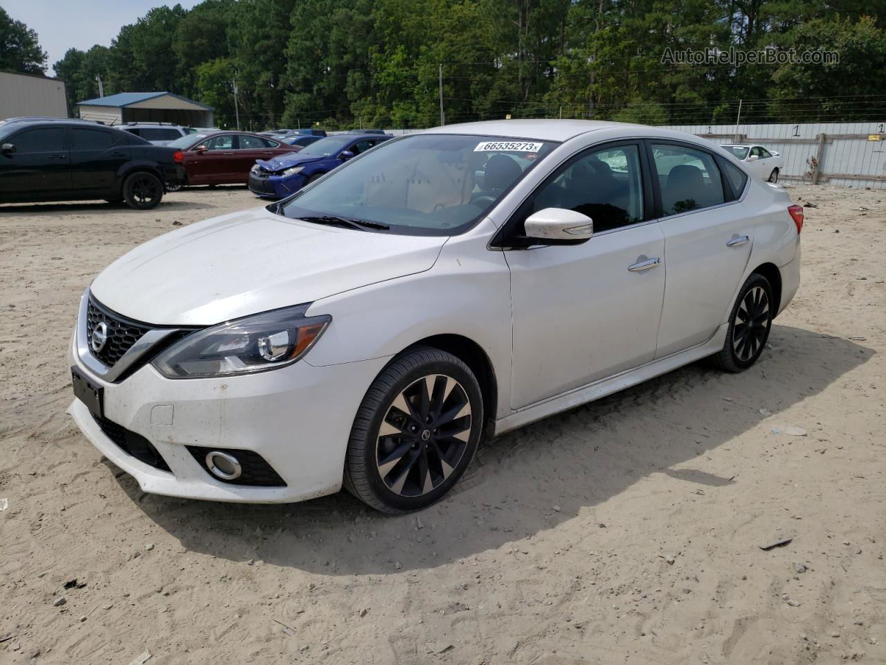
[[[91,289],[136,321],[212,325],[429,270],[446,240],[323,226],[257,208],[137,246]]]

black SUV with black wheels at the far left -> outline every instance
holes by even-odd
[[[104,199],[156,207],[184,181],[182,153],[89,121],[0,122],[0,203]]]

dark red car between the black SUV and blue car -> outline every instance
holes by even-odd
[[[168,144],[187,173],[185,184],[246,184],[255,160],[297,153],[300,148],[245,131],[198,132]]]

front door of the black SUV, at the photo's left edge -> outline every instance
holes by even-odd
[[[71,192],[71,168],[65,144],[65,128],[22,129],[4,143],[15,146],[0,154],[0,193],[8,198],[51,198]]]

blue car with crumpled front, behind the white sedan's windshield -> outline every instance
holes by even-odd
[[[264,199],[283,199],[333,168],[393,138],[387,134],[344,134],[325,137],[299,153],[257,160],[249,172],[249,189]]]

